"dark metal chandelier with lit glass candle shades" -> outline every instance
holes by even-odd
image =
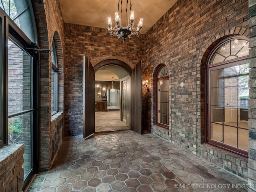
[[[138,36],[140,34],[140,30],[142,28],[142,22],[143,18],[140,18],[140,22],[138,23],[137,28],[134,27],[134,11],[132,11],[132,3],[130,0],[130,22],[128,20],[128,25],[126,27],[122,27],[122,5],[123,5],[123,0],[121,0],[121,19],[119,18],[119,5],[120,5],[120,0],[118,0],[118,10],[115,12],[115,20],[116,20],[116,25],[114,28],[112,28],[112,21],[111,17],[108,17],[108,32],[109,34],[112,35],[117,35],[118,39],[121,37],[123,41],[126,40],[126,38],[130,38],[130,36]],[[127,10],[128,10],[128,0],[126,0],[126,18],[127,17]],[[127,24],[127,23],[126,23]]]

